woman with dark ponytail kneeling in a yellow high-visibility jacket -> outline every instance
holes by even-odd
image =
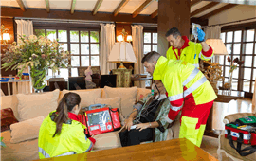
[[[69,92],[64,95],[57,110],[45,118],[38,137],[40,159],[92,150],[95,139],[86,137],[85,126],[77,116],[81,109],[80,102],[78,94]]]

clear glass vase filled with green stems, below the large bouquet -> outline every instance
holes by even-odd
[[[40,64],[37,66],[30,66],[30,77],[33,89],[35,93],[42,93],[43,88],[45,88],[46,84],[44,80],[46,80],[46,66],[41,66]]]

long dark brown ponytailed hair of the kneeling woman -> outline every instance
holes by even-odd
[[[76,93],[66,93],[62,98],[61,102],[59,103],[56,113],[54,122],[56,122],[56,131],[52,137],[56,134],[61,134],[63,123],[65,123],[68,118],[68,112],[72,111],[76,105],[79,105],[81,102],[81,98]]]

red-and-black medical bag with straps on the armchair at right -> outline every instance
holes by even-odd
[[[229,139],[229,144],[241,156],[247,156],[256,151],[256,117],[246,116],[236,119],[234,122],[225,125],[225,137]],[[237,142],[237,147],[233,141]],[[245,149],[241,149],[242,144],[247,144]],[[246,152],[249,151],[249,152]]]

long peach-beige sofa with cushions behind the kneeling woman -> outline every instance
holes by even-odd
[[[58,101],[69,91],[55,90],[42,94],[18,94],[0,98],[1,109],[11,108],[14,116],[19,121],[10,125],[10,130],[0,133],[4,137],[3,142],[7,147],[0,147],[0,161],[15,160],[26,161],[39,159],[38,157],[38,131],[40,125],[48,113],[55,110]],[[133,109],[133,105],[139,99],[147,95],[150,90],[144,88],[97,88],[75,90],[81,98],[81,106],[90,104],[109,104],[113,108],[119,108],[119,116],[124,120]],[[179,123],[174,122],[168,129],[167,139],[178,138]],[[174,132],[174,133],[173,133]],[[121,147],[118,131],[95,135],[97,140],[94,151]]]

